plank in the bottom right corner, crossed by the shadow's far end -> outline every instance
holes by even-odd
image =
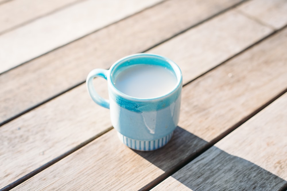
[[[286,124],[287,93],[153,190],[286,188]]]

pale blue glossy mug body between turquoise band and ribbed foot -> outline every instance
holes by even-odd
[[[110,117],[114,128],[135,140],[152,141],[170,134],[179,122],[181,96],[168,107],[157,111],[135,112],[110,100]]]

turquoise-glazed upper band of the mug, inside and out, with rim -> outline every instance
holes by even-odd
[[[134,54],[132,57],[128,56],[118,60],[117,64],[110,68],[110,78],[108,78],[108,86],[110,98],[113,99],[119,106],[134,112],[157,111],[168,107],[174,103],[181,94],[182,90],[182,75],[178,66],[171,60],[158,56],[155,54]],[[125,67],[134,64],[152,64],[165,67],[171,70],[177,77],[177,86],[174,87],[172,92],[169,92],[162,97],[140,99],[130,97],[123,94],[115,87],[113,81],[117,74]]]

